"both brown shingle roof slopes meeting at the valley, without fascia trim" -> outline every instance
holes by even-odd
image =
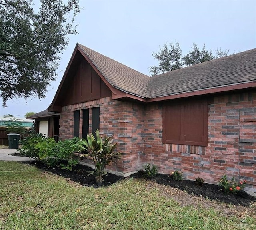
[[[256,80],[256,49],[149,77],[86,46],[78,46],[113,87],[143,98]]]

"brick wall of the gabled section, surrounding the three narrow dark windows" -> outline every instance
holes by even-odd
[[[73,137],[74,110],[80,110],[80,137],[82,137],[82,109],[100,107],[100,134],[113,136],[118,142],[117,151],[122,159],[108,167],[122,174],[138,171],[143,167],[143,123],[144,105],[111,100],[106,97],[85,103],[68,105],[62,108],[60,115],[60,139]],[[92,110],[89,110],[89,133],[92,131]],[[92,163],[86,159],[85,163]]]

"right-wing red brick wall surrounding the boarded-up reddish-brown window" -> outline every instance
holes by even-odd
[[[162,108],[147,106],[144,153],[160,173],[179,170],[217,184],[227,174],[256,190],[256,92],[212,96],[208,105],[208,146],[162,144]],[[171,127],[170,127],[171,129]]]

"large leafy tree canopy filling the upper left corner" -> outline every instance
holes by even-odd
[[[0,97],[45,97],[59,54],[76,34],[78,0],[0,0]]]

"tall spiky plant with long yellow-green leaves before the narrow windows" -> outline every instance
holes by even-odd
[[[100,132],[97,129],[94,135],[88,134],[87,140],[82,139],[81,144],[79,145],[80,151],[86,151],[87,153],[82,154],[80,157],[90,157],[94,162],[95,170],[90,171],[88,175],[94,174],[96,177],[96,182],[98,186],[102,185],[103,176],[107,176],[105,168],[109,165],[114,159],[120,158],[120,153],[114,152],[117,143],[112,144],[113,139],[110,140],[110,137],[100,137]]]

